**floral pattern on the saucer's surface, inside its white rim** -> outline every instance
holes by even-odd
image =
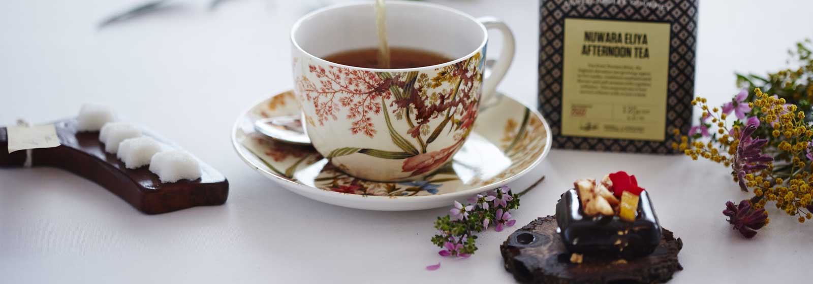
[[[547,131],[542,120],[524,105],[510,99],[503,98],[499,104],[483,111],[482,123],[474,123],[472,132],[493,143],[500,155],[510,159],[510,166],[498,171],[498,174],[484,176],[476,174],[473,177],[463,178],[467,174],[459,172],[465,168],[473,173],[492,171],[487,169],[491,165],[463,165],[463,161],[453,160],[442,164],[438,170],[425,175],[422,179],[399,183],[372,182],[354,178],[327,162],[327,159],[309,146],[297,146],[269,140],[265,136],[254,132],[254,120],[274,116],[289,116],[298,114],[298,103],[292,92],[279,95],[263,101],[244,117],[241,127],[241,145],[262,161],[267,170],[272,171],[280,179],[287,179],[293,183],[302,183],[311,187],[318,187],[324,191],[335,191],[343,194],[361,196],[428,196],[445,194],[467,188],[482,187],[499,183],[527,170],[538,161],[547,146]],[[465,148],[454,145],[454,147]],[[450,149],[437,151],[439,155],[452,153]],[[432,153],[426,153],[431,157]],[[452,154],[454,156],[454,154]],[[413,161],[437,161],[437,159],[424,159],[417,155]],[[406,159],[405,159],[406,164]],[[423,163],[415,163],[422,165]],[[410,165],[412,165],[410,161]],[[471,169],[474,166],[475,168]]]

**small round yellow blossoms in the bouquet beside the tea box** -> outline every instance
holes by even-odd
[[[792,216],[798,216],[799,222],[813,217],[807,212],[806,206],[813,204],[813,174],[811,174],[811,161],[806,158],[806,148],[813,137],[813,127],[805,123],[805,114],[797,111],[796,105],[786,105],[784,98],[768,96],[759,88],[754,89],[755,98],[749,105],[759,110],[760,130],[762,138],[772,138],[766,146],[767,152],[778,160],[768,163],[765,170],[753,174],[746,174],[746,186],[754,191],[754,208],[763,208],[768,201],[776,203],[776,208]],[[706,105],[706,99],[698,97],[692,101],[693,105],[700,105],[703,115],[710,115],[712,127],[717,127],[717,133],[728,133],[725,114],[720,114],[717,108]],[[723,163],[730,166],[736,160],[737,145],[740,141],[740,125],[745,122],[734,123],[731,127],[732,136],[722,135],[714,140],[703,143],[699,140],[689,141],[689,137],[681,136],[680,144],[672,144],[672,148],[683,151],[686,156],[697,160],[702,157],[706,160]],[[675,132],[678,136],[678,131]],[[713,133],[713,132],[712,132]],[[772,136],[772,137],[767,137]],[[716,143],[715,143],[716,142]],[[728,153],[726,156],[725,153]],[[780,168],[782,170],[776,170]],[[738,182],[737,174],[734,180]]]

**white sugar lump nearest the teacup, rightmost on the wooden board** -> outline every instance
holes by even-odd
[[[156,153],[150,161],[150,171],[158,174],[162,183],[199,179],[202,174],[198,160],[179,150]]]

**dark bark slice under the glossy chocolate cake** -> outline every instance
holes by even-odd
[[[505,269],[523,283],[659,283],[683,270],[677,253],[683,241],[663,229],[661,241],[649,256],[628,260],[611,256],[583,256],[571,261],[571,252],[556,233],[553,216],[541,217],[516,230],[500,246]]]

